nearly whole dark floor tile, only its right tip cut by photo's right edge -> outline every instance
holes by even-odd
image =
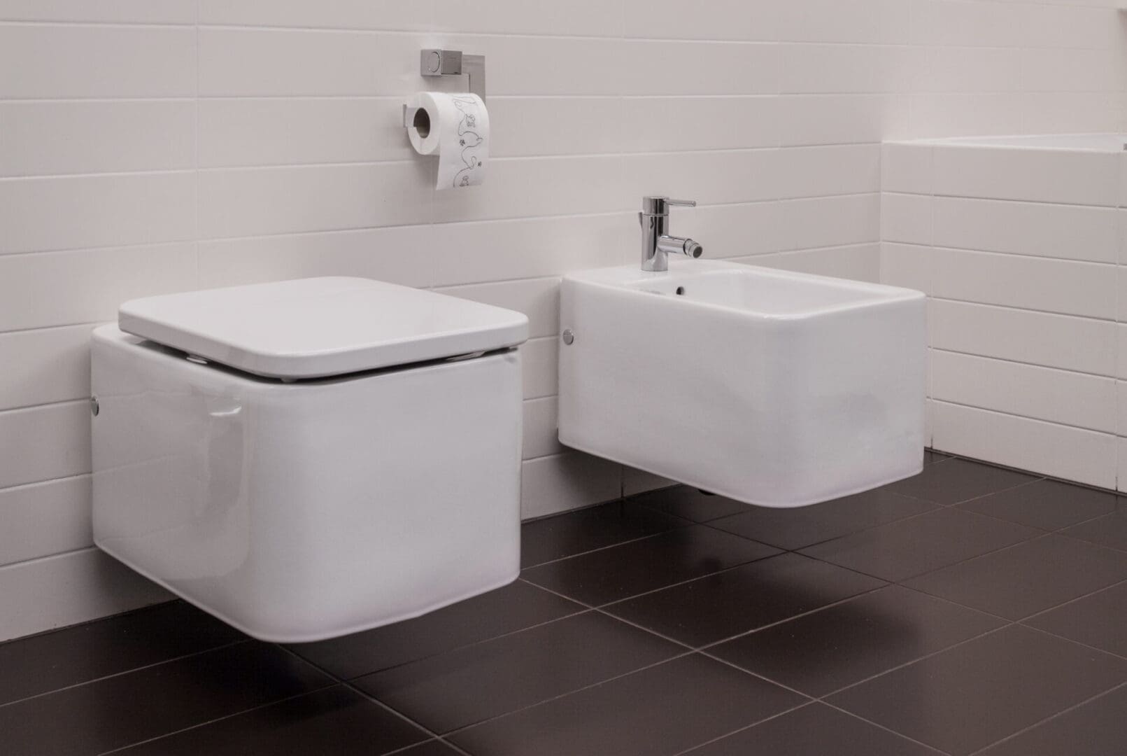
[[[1127,553],[1047,535],[929,572],[905,584],[1021,619],[1127,580]]]

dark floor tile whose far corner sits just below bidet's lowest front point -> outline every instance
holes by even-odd
[[[700,647],[882,584],[825,562],[781,554],[612,604],[605,610]]]

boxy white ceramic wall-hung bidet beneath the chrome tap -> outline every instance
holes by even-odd
[[[645,216],[644,239],[645,269]],[[919,291],[681,260],[573,273],[560,297],[567,446],[769,507],[922,468]]]

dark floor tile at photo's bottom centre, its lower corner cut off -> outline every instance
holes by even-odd
[[[450,736],[482,756],[672,756],[804,698],[693,654]]]

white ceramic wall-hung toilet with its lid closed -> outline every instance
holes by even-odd
[[[259,639],[520,569],[527,318],[354,278],[126,302],[94,332],[95,543]]]

